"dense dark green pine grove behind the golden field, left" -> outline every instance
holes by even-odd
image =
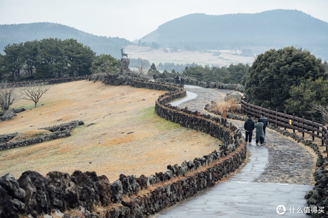
[[[90,75],[100,65],[120,65],[111,55],[96,56],[89,46],[74,39],[13,43],[4,52],[5,55],[0,54],[0,81]]]

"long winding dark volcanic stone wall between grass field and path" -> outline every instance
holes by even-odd
[[[155,105],[156,113],[181,126],[197,129],[220,139],[223,143],[218,144],[218,151],[188,162],[183,161],[180,166],[168,165],[164,173],[159,172],[148,177],[141,175],[136,178],[121,174],[112,183],[106,176],[78,170],[71,176],[54,171],[46,177],[37,172],[26,171],[18,180],[7,174],[0,178],[0,217],[14,217],[19,213],[31,214],[34,218],[38,215],[46,216],[45,214],[56,216],[56,210],[65,213],[66,210],[74,209],[78,211],[79,217],[86,218],[141,218],[214,186],[215,182],[234,172],[246,158],[246,145],[241,132],[232,123],[228,123],[227,119],[201,115],[200,112],[193,112],[188,108],[179,109],[168,104],[186,95],[182,87],[142,81],[135,81],[133,84],[139,88],[165,88],[169,91],[159,96]],[[56,133],[61,127],[44,129]],[[70,129],[70,125],[65,127],[62,131]],[[239,146],[241,147],[238,148]],[[200,171],[201,166],[208,167]],[[188,172],[194,173],[186,176]],[[152,188],[151,185],[159,182],[167,184],[170,180],[173,181],[168,185],[138,195],[139,190],[149,186]],[[123,195],[129,197],[122,198]],[[102,212],[93,212],[95,205],[104,206]],[[72,215],[65,214],[63,217],[71,218]]]

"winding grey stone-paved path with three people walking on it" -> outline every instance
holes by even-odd
[[[204,105],[221,96],[215,95],[220,90],[191,87],[186,90],[197,96],[179,106],[201,113],[208,113],[203,110]],[[243,130],[243,122],[232,121]],[[153,217],[309,217],[297,213],[297,210],[290,213],[289,209],[301,208],[304,212],[304,196],[313,188],[307,184],[312,182],[314,155],[305,150],[306,147],[273,130],[267,130],[266,142],[265,146],[256,145],[254,141],[247,145],[249,161],[226,182],[218,183]],[[276,212],[279,205],[286,207],[284,215]]]

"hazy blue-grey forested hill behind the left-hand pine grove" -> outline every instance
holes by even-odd
[[[4,54],[3,49],[9,43],[13,44],[47,38],[58,38],[62,40],[73,38],[77,42],[83,43],[83,45],[90,46],[97,55],[104,53],[110,54],[115,58],[121,57],[121,46],[133,44],[126,39],[95,36],[61,24],[10,24],[0,25],[0,53]]]

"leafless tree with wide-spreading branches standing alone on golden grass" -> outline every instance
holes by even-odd
[[[41,96],[50,90],[50,86],[48,82],[29,82],[21,86],[21,91],[19,92],[22,94],[20,99],[31,100],[35,103],[38,103]]]

